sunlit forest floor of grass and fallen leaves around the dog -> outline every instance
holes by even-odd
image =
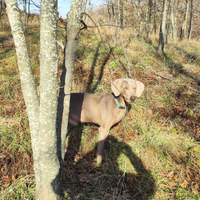
[[[120,41],[112,42],[106,28],[101,32],[109,53],[94,29],[80,36],[73,92],[110,93],[112,81],[127,77]],[[34,23],[26,31],[37,86],[39,33]],[[59,28],[62,42],[64,35]],[[98,128],[71,130],[62,172],[64,198],[200,199],[200,94],[191,89],[200,91],[200,42],[169,39],[160,55],[153,35],[136,40],[127,29],[121,36],[131,75],[144,83],[144,93],[110,131],[102,166],[95,165]],[[59,46],[58,51],[59,78]],[[30,130],[9,28],[0,32],[0,66],[0,199],[34,199]]]

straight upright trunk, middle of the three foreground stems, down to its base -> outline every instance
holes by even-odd
[[[39,199],[60,198],[60,162],[57,152],[57,1],[42,0],[40,13],[40,166]]]

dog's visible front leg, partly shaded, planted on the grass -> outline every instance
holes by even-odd
[[[110,128],[99,128],[99,141],[97,145],[97,165],[100,165],[102,162],[102,155],[103,155],[103,148],[104,148],[104,142],[108,136]]]

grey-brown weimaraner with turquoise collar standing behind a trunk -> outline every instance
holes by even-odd
[[[95,123],[99,127],[97,164],[101,164],[104,141],[110,128],[126,114],[127,103],[135,101],[144,90],[144,84],[130,78],[117,79],[111,84],[111,94],[96,95],[72,93],[68,130],[79,123]]]

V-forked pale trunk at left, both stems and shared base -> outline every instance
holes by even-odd
[[[17,0],[7,0],[22,92],[29,118],[36,177],[36,199],[60,199],[57,155],[57,1],[43,0],[40,15],[40,102],[24,37]]]

